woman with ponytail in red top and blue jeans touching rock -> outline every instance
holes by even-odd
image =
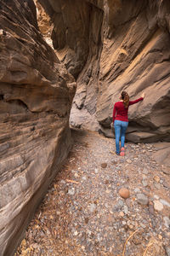
[[[133,102],[129,102],[129,96],[126,91],[122,91],[120,102],[116,102],[113,108],[113,124],[115,127],[116,137],[116,154],[124,155],[125,132],[128,126],[128,107],[144,100],[144,93],[142,96]],[[121,137],[121,152],[119,148],[119,140]]]

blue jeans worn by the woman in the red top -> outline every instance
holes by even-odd
[[[116,154],[120,154],[119,141],[121,138],[121,148],[124,148],[125,144],[125,133],[127,131],[128,122],[115,120],[115,137],[116,137]]]

